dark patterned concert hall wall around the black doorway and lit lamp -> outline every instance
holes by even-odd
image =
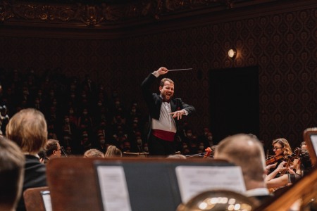
[[[317,126],[316,26],[315,4],[159,22],[130,29],[130,36],[105,38],[97,30],[85,37],[76,30],[20,33],[12,27],[0,32],[0,68],[33,68],[38,74],[59,69],[80,79],[89,73],[109,94],[118,90],[128,103],[137,100],[144,112],[139,85],[149,72],[194,68],[168,77],[175,95],[197,108],[188,122],[201,133],[211,121],[209,71],[258,66],[259,138],[270,145],[285,137],[298,146],[304,129]],[[235,60],[227,56],[232,47]]]

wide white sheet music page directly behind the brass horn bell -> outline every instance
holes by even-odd
[[[211,189],[246,191],[241,167],[178,166],[175,168],[182,203]]]

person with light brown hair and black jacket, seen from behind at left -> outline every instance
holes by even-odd
[[[23,191],[27,188],[47,186],[46,167],[39,161],[39,151],[47,141],[47,125],[44,115],[33,108],[15,113],[6,125],[6,135],[20,146],[25,154]],[[25,210],[23,197],[17,210]]]

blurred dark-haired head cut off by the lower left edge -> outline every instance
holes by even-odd
[[[0,210],[15,210],[22,193],[24,165],[21,149],[0,136]]]

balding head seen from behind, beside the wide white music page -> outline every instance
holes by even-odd
[[[214,158],[240,166],[247,190],[266,187],[265,155],[256,137],[248,134],[228,136],[217,145]]]

